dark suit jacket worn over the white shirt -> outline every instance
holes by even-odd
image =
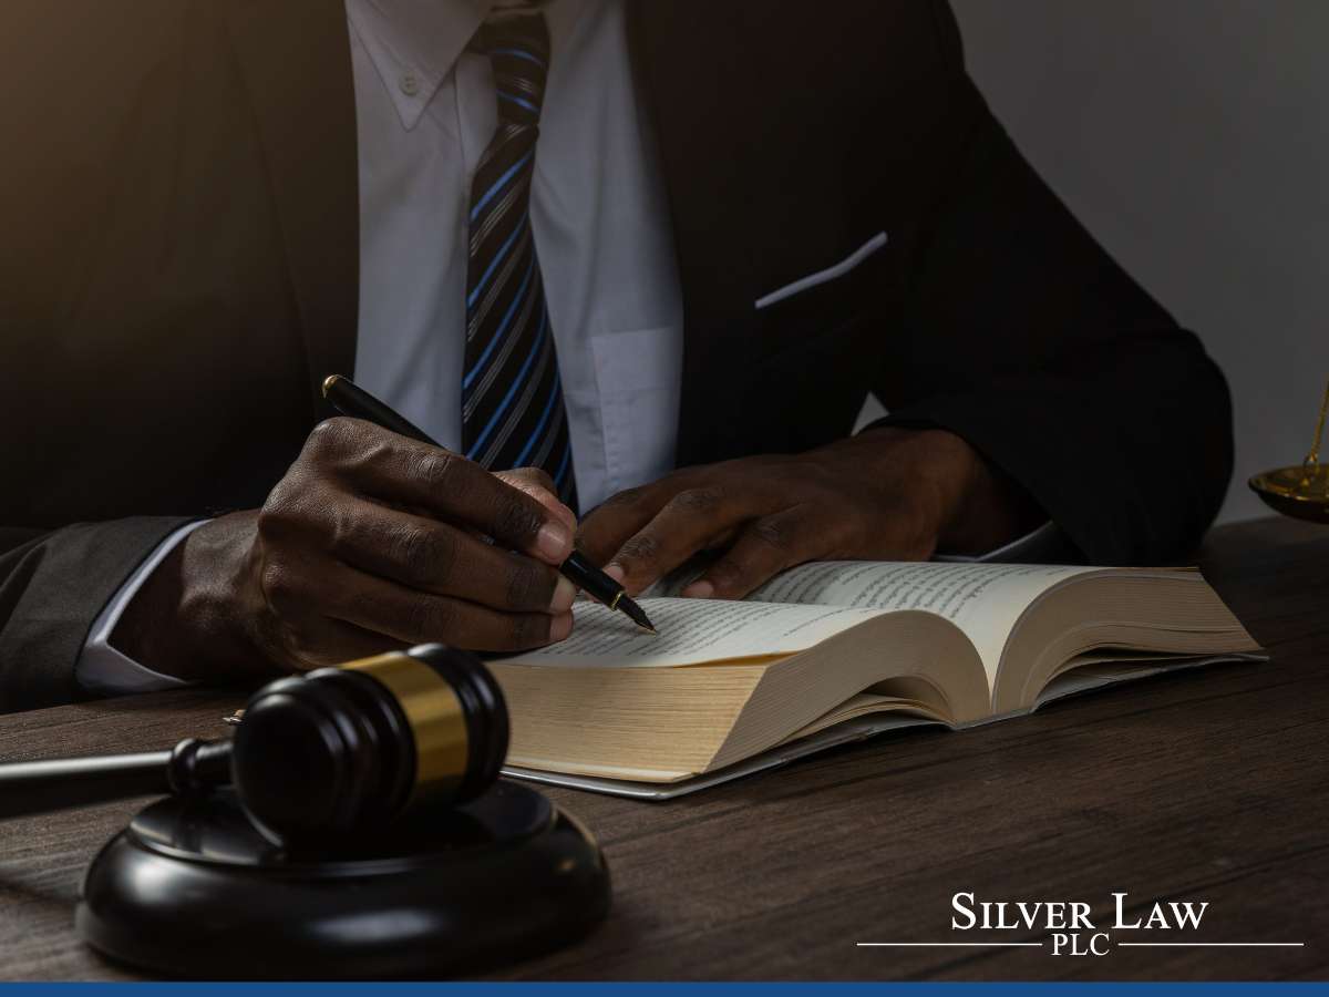
[[[816,447],[873,391],[1094,562],[1196,544],[1223,376],[1021,158],[944,0],[629,1],[684,299],[679,464]],[[262,504],[352,367],[359,246],[340,0],[12,0],[0,74],[12,710],[78,695],[92,621],[182,517]]]

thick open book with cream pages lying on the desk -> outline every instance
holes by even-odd
[[[490,662],[510,774],[663,798],[1260,650],[1195,569],[828,561],[742,602],[639,602],[658,637],[578,602],[566,641]]]

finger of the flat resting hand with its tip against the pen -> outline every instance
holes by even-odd
[[[783,496],[748,487],[708,484],[687,488],[629,537],[609,560],[607,568],[619,566],[623,588],[635,594],[710,546],[716,536],[771,513],[781,500]]]

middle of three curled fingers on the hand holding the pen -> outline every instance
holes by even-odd
[[[363,498],[343,501],[332,518],[330,553],[412,589],[509,613],[565,613],[577,594],[552,565],[437,520]]]

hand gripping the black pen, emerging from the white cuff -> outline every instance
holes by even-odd
[[[575,588],[557,566],[575,526],[544,472],[492,475],[369,423],[331,419],[262,509],[213,520],[171,552],[112,645],[190,679],[427,641],[536,647],[571,630]]]

